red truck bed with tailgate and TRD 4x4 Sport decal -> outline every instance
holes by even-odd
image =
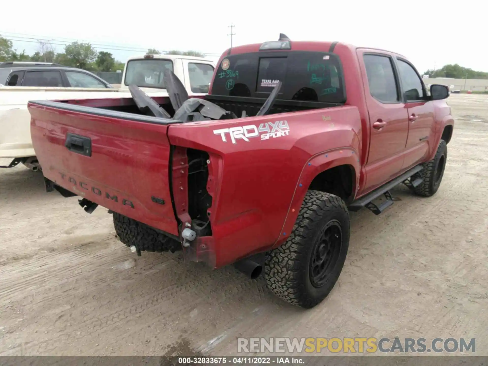
[[[247,97],[207,98],[238,116],[244,110],[255,115],[262,106]],[[153,99],[169,111],[167,98]],[[173,237],[195,221],[208,224],[195,248],[185,250],[211,267],[285,239],[280,231],[289,232],[294,221],[288,198],[297,189],[305,194],[298,185],[304,164],[316,151],[332,148],[324,144],[325,134],[359,151],[361,120],[353,106],[278,100],[270,115],[201,122],[142,115],[130,98],[34,101],[28,107],[47,180]],[[230,135],[243,128],[256,132],[249,139]],[[345,163],[357,164],[355,155],[345,155]],[[200,244],[210,254],[202,254]]]

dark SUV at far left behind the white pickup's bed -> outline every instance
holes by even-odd
[[[89,71],[48,62],[0,62],[0,85],[113,88]]]

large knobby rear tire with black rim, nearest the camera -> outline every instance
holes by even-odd
[[[340,239],[335,235],[339,242],[335,247],[339,252],[334,255],[336,260],[330,257],[330,268],[329,265],[325,268],[328,272],[325,284],[316,286],[312,284],[310,263],[315,263],[312,255],[323,242],[323,231],[327,232],[331,224],[341,230]],[[335,226],[334,230],[337,230]],[[266,253],[266,285],[286,302],[311,308],[324,300],[337,282],[348,246],[349,212],[346,203],[333,194],[309,190],[286,242]]]

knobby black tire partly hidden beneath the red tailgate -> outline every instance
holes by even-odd
[[[135,245],[141,251],[161,253],[181,245],[175,239],[152,227],[117,212],[113,213],[113,218],[117,236],[123,244],[129,247]]]

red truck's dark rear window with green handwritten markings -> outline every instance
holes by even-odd
[[[283,83],[279,100],[345,103],[339,57],[327,52],[260,51],[230,55],[218,66],[213,95],[267,98]]]

